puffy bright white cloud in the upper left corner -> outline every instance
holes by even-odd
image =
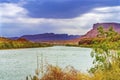
[[[2,23],[12,22],[14,20],[17,20],[18,18],[23,18],[27,16],[27,10],[18,6],[17,4],[12,3],[1,3],[0,13]]]

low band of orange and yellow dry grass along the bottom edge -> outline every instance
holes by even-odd
[[[31,77],[30,80],[120,80],[120,67],[113,64],[110,70],[97,70],[95,73],[81,73],[68,66],[64,69],[58,66],[48,66],[43,77]]]

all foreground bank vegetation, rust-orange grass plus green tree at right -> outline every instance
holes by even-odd
[[[36,74],[27,76],[26,80],[120,80],[119,35],[112,27],[108,31],[99,27],[98,33],[98,38],[103,39],[94,40],[91,52],[94,66],[88,73],[81,73],[70,66],[62,69],[59,66],[47,65],[38,68]]]

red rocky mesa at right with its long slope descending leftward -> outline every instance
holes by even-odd
[[[105,30],[108,30],[109,27],[113,27],[113,29],[120,34],[120,23],[96,23],[93,24],[93,28],[90,31],[88,31],[85,35],[74,39],[72,42],[78,44],[79,41],[95,38],[98,34],[97,28],[100,26],[102,26]]]

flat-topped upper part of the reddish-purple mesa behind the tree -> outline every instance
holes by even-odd
[[[105,30],[109,29],[109,27],[113,27],[113,29],[120,33],[120,23],[96,23],[93,25],[93,29],[88,31],[83,38],[94,38],[97,36],[97,28],[102,26]]]

